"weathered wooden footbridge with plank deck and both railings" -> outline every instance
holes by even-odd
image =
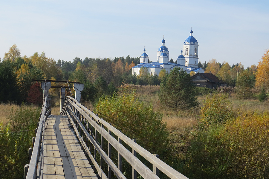
[[[79,95],[66,97],[61,115],[51,114],[50,100],[44,97],[25,178],[187,179],[81,105]]]

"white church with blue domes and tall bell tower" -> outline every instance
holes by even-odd
[[[149,63],[149,56],[144,53],[140,56],[140,63],[137,66],[132,67],[132,75],[139,75],[141,67],[146,67],[150,75],[159,75],[161,69],[165,69],[168,73],[176,67],[187,71],[189,74],[191,71],[197,73],[204,73],[202,68],[198,68],[198,42],[192,36],[193,31],[190,31],[190,36],[185,40],[183,45],[183,52],[178,56],[177,64],[169,62],[169,51],[164,45],[165,40],[162,40],[162,46],[157,51],[157,62]]]

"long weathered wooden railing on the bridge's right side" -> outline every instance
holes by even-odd
[[[135,143],[134,140],[99,118],[74,98],[67,97],[61,114],[68,116],[82,150],[92,164],[94,172],[100,178],[110,179],[111,171],[117,178],[126,178],[123,175],[123,172],[126,171],[122,171],[124,158],[124,163],[127,162],[132,167],[130,169],[133,179],[137,178],[137,173],[143,178],[156,179],[159,178],[159,171],[171,179],[187,179],[187,177],[158,159],[156,155],[151,154]],[[115,153],[112,154],[112,152]],[[139,155],[139,157],[136,157],[136,155]],[[114,159],[112,159],[113,157]],[[141,157],[146,162],[138,159]],[[112,161],[115,158],[117,158],[117,161]],[[106,162],[106,166],[103,161]],[[127,172],[131,173],[131,171]]]

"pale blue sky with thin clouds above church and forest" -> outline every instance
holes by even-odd
[[[269,48],[267,0],[9,0],[0,2],[0,58],[16,44],[22,56],[139,57],[157,61],[163,35],[174,61],[193,31],[198,58],[258,65]]]

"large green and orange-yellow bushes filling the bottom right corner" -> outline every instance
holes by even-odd
[[[268,113],[245,112],[200,130],[185,165],[189,178],[269,178]]]

